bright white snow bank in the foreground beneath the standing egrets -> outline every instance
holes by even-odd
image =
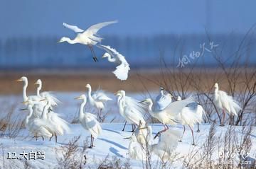
[[[87,164],[93,166],[95,163],[95,159],[102,160],[107,155],[116,156],[121,161],[127,161],[126,158],[129,158],[128,156],[128,146],[129,146],[129,140],[124,139],[124,137],[131,136],[131,132],[122,132],[122,126],[123,124],[120,123],[104,123],[102,124],[102,134],[98,137],[98,139],[95,140],[95,147],[92,149],[88,149],[86,156],[87,156]],[[153,133],[156,134],[160,129],[162,129],[161,124],[152,124],[153,127]],[[30,165],[32,168],[55,168],[57,160],[56,160],[56,148],[60,148],[60,146],[65,146],[68,144],[68,141],[70,139],[73,139],[74,136],[81,136],[79,140],[79,145],[82,146],[82,141],[86,140],[90,134],[85,131],[81,127],[80,124],[72,124],[70,125],[72,129],[72,133],[66,134],[65,136],[59,136],[58,142],[55,143],[55,141],[42,141],[41,139],[38,139],[38,141],[35,141],[31,138],[31,136],[28,136],[28,132],[26,129],[22,130],[20,135],[16,137],[16,139],[9,139],[8,137],[4,137],[0,139],[1,143],[1,151],[0,151],[0,166],[3,168],[3,165],[5,165],[6,168],[22,168],[24,163],[23,160],[18,159],[7,159],[8,153],[16,153],[15,157],[21,158],[20,153],[29,153],[29,152],[36,152],[36,151],[45,151],[45,160],[27,160],[28,165]],[[127,129],[129,129],[127,127]],[[176,128],[176,127],[171,127]],[[177,127],[182,132],[182,127]],[[228,127],[217,127],[216,135],[219,135],[221,133],[224,134],[225,130]],[[210,129],[210,125],[204,124],[201,125],[201,132],[197,133],[195,132],[195,139],[196,139],[196,146],[192,146],[191,142],[191,132],[186,132],[183,137],[183,142],[178,142],[178,147],[176,148],[176,153],[178,153],[178,156],[187,156],[189,152],[192,151],[193,148],[200,148],[206,141],[206,138],[208,136],[208,131]],[[196,127],[195,127],[196,130]],[[236,133],[240,134],[241,127],[237,127],[235,129]],[[252,151],[255,152],[256,150],[256,132],[254,131],[252,133]],[[157,142],[157,139],[155,140]],[[195,150],[194,150],[195,151]],[[4,153],[4,154],[3,154]],[[218,156],[216,153],[214,156]],[[251,154],[252,156],[252,154]],[[4,157],[4,160],[3,160]],[[11,157],[14,157],[14,154],[11,154]],[[27,155],[28,157],[28,155]],[[153,161],[157,161],[158,158],[154,157]],[[4,161],[4,163],[3,163]],[[175,165],[180,166],[182,164],[182,160],[176,161]],[[131,160],[129,163],[132,165],[132,168],[142,168],[142,161],[136,161]]]

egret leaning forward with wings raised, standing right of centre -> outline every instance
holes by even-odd
[[[181,112],[183,107],[193,102],[194,102],[194,98],[189,97],[189,98],[186,98],[185,100],[170,103],[167,107],[164,108],[164,110],[152,110],[153,102],[151,98],[147,98],[146,100],[143,100],[140,103],[149,103],[148,105],[149,114],[152,117],[159,120],[159,122],[164,124],[164,129],[156,134],[156,136],[159,136],[159,134],[161,134],[162,132],[166,132],[166,130],[169,129],[167,124],[176,124],[178,113]],[[156,136],[154,136],[154,139],[156,138]]]

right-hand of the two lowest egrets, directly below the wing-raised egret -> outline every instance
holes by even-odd
[[[178,146],[178,139],[180,138],[180,131],[169,129],[159,136],[157,144],[149,145],[149,151],[156,154],[156,156],[159,156],[161,161],[165,163],[170,160],[171,153],[173,153],[175,148]]]

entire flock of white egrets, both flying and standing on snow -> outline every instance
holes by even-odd
[[[103,57],[107,57],[110,62],[119,64],[117,69],[113,72],[117,78],[126,80],[128,77],[129,64],[124,59],[122,54],[119,54],[115,49],[110,46],[100,45],[102,38],[97,36],[97,31],[100,28],[116,23],[116,21],[98,23],[92,25],[87,30],[82,30],[74,25],[68,25],[63,23],[66,28],[77,33],[74,40],[70,40],[68,37],[62,37],[59,42],[69,42],[70,44],[80,43],[87,45],[91,52],[93,59],[97,62],[97,57],[92,46],[104,49],[106,53]],[[23,103],[27,105],[28,115],[26,116],[25,124],[26,128],[31,132],[33,136],[52,139],[55,136],[63,135],[70,132],[68,122],[63,120],[57,113],[53,112],[53,109],[60,102],[49,92],[40,92],[42,88],[42,81],[38,79],[36,85],[38,85],[36,95],[27,96],[26,88],[28,87],[28,78],[25,76],[19,78],[17,81],[23,81]],[[91,134],[90,148],[94,146],[94,139],[102,132],[100,126],[102,110],[107,106],[107,102],[112,98],[107,96],[104,91],[98,90],[92,92],[90,84],[85,86],[87,88],[87,95],[82,94],[75,98],[82,100],[80,105],[79,120],[82,127],[85,128]],[[241,109],[238,103],[224,91],[218,90],[218,83],[215,83],[214,103],[215,106],[223,110],[223,120],[220,122],[224,124],[225,112],[230,115],[237,115],[237,112]],[[117,97],[117,107],[119,114],[124,117],[127,122],[132,124],[132,136],[129,137],[129,155],[131,158],[140,159],[142,157],[145,146],[148,147],[150,152],[155,153],[163,160],[169,159],[169,154],[174,150],[174,147],[181,141],[183,134],[186,130],[185,126],[191,129],[193,137],[193,126],[203,122],[203,118],[206,117],[206,112],[203,107],[198,104],[195,98],[188,97],[181,100],[180,97],[176,101],[172,100],[172,95],[160,88],[160,93],[153,101],[151,98],[139,101],[126,95],[125,91],[117,91],[115,93]],[[84,112],[84,107],[88,103],[97,109],[97,115],[90,112]],[[193,106],[191,106],[193,105]],[[149,112],[151,117],[155,118],[161,124],[164,125],[164,129],[159,131],[155,136],[159,136],[157,144],[153,144],[153,137],[151,126],[146,122],[145,114]],[[124,124],[124,127],[125,127]],[[169,125],[182,124],[184,127],[183,134],[181,132],[169,129]],[[124,129],[123,129],[124,131]],[[199,130],[198,130],[199,132]],[[193,145],[195,145],[193,137]],[[141,152],[141,153],[140,153]]]

